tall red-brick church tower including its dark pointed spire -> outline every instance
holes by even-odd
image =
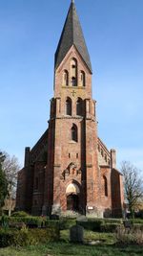
[[[92,64],[72,1],[55,53],[46,171],[51,213],[85,213],[100,200]]]

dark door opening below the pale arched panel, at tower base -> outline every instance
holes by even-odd
[[[67,210],[78,211],[79,210],[79,198],[77,195],[69,195],[67,197]]]

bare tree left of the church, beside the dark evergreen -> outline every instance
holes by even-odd
[[[14,155],[10,157],[10,155],[7,152],[5,152],[4,154],[6,158],[2,166],[8,181],[7,200],[9,202],[9,216],[10,216],[12,198],[15,198],[15,195],[16,195],[17,172],[20,170],[20,167],[18,164],[18,160]]]

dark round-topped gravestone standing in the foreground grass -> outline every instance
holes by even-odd
[[[70,229],[70,242],[72,243],[83,243],[84,228],[80,225],[73,225]]]

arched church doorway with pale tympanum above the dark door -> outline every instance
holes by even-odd
[[[67,210],[79,210],[79,187],[75,183],[71,183],[66,190],[67,195]]]

